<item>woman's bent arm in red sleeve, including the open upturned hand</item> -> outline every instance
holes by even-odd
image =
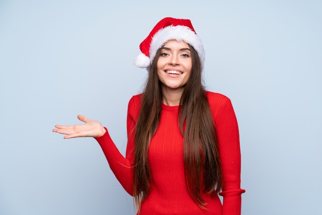
[[[132,98],[129,102],[127,128],[128,128],[128,146],[126,157],[119,152],[113,140],[110,137],[108,130],[101,126],[101,123],[96,120],[88,119],[79,115],[79,120],[85,122],[75,126],[55,126],[53,132],[65,134],[65,139],[75,137],[94,137],[101,146],[109,165],[115,174],[117,180],[123,188],[133,195],[133,160],[134,160],[134,129],[139,111],[139,104],[136,104]],[[133,131],[133,132],[132,132]]]

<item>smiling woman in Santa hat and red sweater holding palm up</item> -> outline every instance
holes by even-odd
[[[129,102],[126,157],[99,121],[79,115],[84,124],[53,132],[95,137],[141,215],[240,215],[236,116],[226,96],[202,85],[204,48],[191,22],[161,20],[140,50],[134,63],[149,75]]]

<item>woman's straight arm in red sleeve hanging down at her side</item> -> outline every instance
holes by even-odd
[[[239,131],[234,109],[229,99],[222,105],[215,120],[222,166],[223,215],[240,215],[240,146]]]

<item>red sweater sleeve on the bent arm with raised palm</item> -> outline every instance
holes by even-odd
[[[131,98],[128,106],[126,157],[119,152],[106,128],[103,136],[95,138],[101,146],[117,180],[130,195],[133,195],[134,129],[139,114],[139,101],[139,97],[134,96]]]

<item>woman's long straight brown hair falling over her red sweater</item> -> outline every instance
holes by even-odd
[[[187,190],[193,201],[205,209],[202,192],[218,193],[222,187],[222,176],[214,123],[202,85],[201,62],[195,49],[190,45],[189,48],[192,69],[181,96],[178,122],[184,136]],[[135,127],[134,200],[138,210],[150,191],[148,151],[150,140],[159,124],[163,100],[161,83],[156,72],[160,50],[156,52],[156,57],[148,68],[149,76]]]

